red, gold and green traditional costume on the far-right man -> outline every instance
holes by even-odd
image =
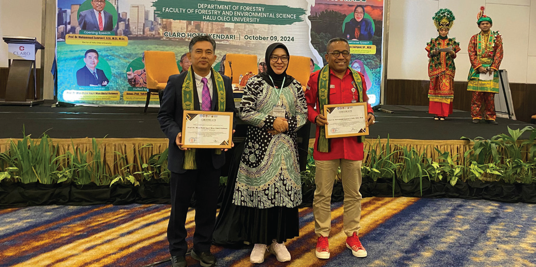
[[[503,43],[501,33],[489,31],[488,34],[480,32],[471,37],[467,48],[471,68],[469,69],[469,80],[467,85],[468,91],[473,91],[471,98],[471,117],[473,119],[482,118],[482,106],[484,117],[487,120],[495,120],[495,101],[494,95],[499,92],[499,75],[498,69],[503,59]],[[480,80],[478,68],[491,68],[493,80]]]

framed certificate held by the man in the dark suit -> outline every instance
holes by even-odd
[[[233,112],[184,110],[184,148],[231,148]]]

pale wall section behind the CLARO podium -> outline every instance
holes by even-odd
[[[0,37],[36,37],[41,42],[42,0],[0,0]],[[0,67],[8,67],[8,44],[0,39]],[[41,51],[36,65],[41,65]]]

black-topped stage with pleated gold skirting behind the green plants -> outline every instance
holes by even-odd
[[[43,105],[0,106],[0,152],[6,152],[10,143],[31,135],[38,140],[43,133],[51,138],[51,143],[58,147],[58,155],[68,151],[82,153],[98,147],[103,164],[111,174],[120,173],[117,162],[126,160],[125,164],[145,163],[155,154],[161,154],[168,147],[168,139],[160,130],[157,120],[158,108],[150,108],[143,113],[143,107],[112,106],[71,106],[51,108],[54,102]],[[414,148],[434,160],[441,152],[449,152],[457,158],[459,164],[465,164],[463,155],[472,149],[468,140],[482,137],[490,139],[497,134],[508,133],[508,127],[520,129],[527,125],[516,120],[498,118],[499,125],[486,123],[472,124],[468,112],[455,111],[445,121],[434,120],[428,114],[427,106],[383,105],[383,109],[394,113],[376,112],[376,124],[370,128],[364,144],[365,158],[371,158],[368,151],[376,154],[386,150],[388,138],[390,151],[400,151],[406,147]],[[236,147],[226,154],[229,158],[244,138],[247,125],[237,121],[234,143]],[[378,140],[379,137],[379,140]],[[308,148],[314,146],[315,125],[306,125],[298,132],[300,169],[305,170]],[[525,133],[520,139],[528,139]],[[403,161],[400,152],[392,161]],[[526,157],[526,155],[524,156]],[[227,170],[228,166],[224,166]]]

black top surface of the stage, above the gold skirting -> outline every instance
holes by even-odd
[[[39,138],[46,132],[54,139],[79,138],[143,138],[162,139],[157,120],[158,108],[117,106],[72,106],[51,108],[54,102],[43,105],[0,106],[0,139],[23,138],[26,135]],[[472,124],[469,112],[455,110],[445,121],[433,119],[427,106],[383,105],[394,113],[376,111],[376,124],[370,128],[367,139],[411,140],[460,140],[461,136],[474,139],[478,136],[490,139],[494,135],[508,133],[508,128],[523,128],[522,121],[497,118],[499,125],[482,121]],[[310,138],[314,138],[315,125]],[[522,136],[528,139],[528,134]]]

